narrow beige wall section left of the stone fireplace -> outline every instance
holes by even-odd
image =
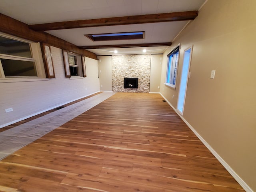
[[[100,90],[112,91],[112,56],[98,56]]]

